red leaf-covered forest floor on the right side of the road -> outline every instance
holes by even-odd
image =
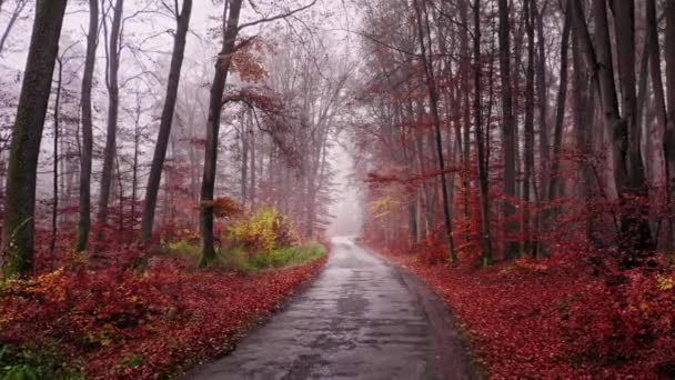
[[[465,268],[376,250],[445,301],[491,379],[672,379],[675,373],[675,298],[672,282],[658,276],[626,272],[631,282],[616,297],[581,260]]]

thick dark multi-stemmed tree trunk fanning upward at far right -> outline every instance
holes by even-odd
[[[597,76],[605,124],[612,138],[614,182],[621,206],[618,242],[622,263],[624,267],[632,267],[638,264],[643,253],[654,249],[649,224],[645,219],[646,183],[639,149],[639,126],[636,120],[634,2],[632,0],[612,2],[622,90],[619,110],[605,0],[593,2],[595,48],[585,24],[580,0],[572,1],[575,29],[581,36],[586,60]],[[621,111],[624,113],[623,117]]]

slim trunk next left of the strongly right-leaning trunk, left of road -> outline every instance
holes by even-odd
[[[108,58],[108,128],[105,136],[105,148],[103,150],[103,169],[101,172],[101,190],[99,193],[99,210],[97,213],[97,222],[99,230],[97,233],[97,243],[101,244],[105,223],[108,222],[108,204],[110,202],[110,184],[112,182],[112,171],[114,164],[117,136],[118,136],[118,117],[120,106],[120,86],[118,74],[120,71],[120,32],[122,27],[122,13],[124,0],[117,0],[112,17],[112,27],[110,31],[110,41],[107,49]],[[105,27],[105,23],[104,23]],[[105,30],[105,28],[104,28]],[[97,247],[100,249],[101,247]]]

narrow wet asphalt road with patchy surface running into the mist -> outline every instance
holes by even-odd
[[[443,303],[345,238],[320,277],[230,356],[187,379],[471,379]]]

